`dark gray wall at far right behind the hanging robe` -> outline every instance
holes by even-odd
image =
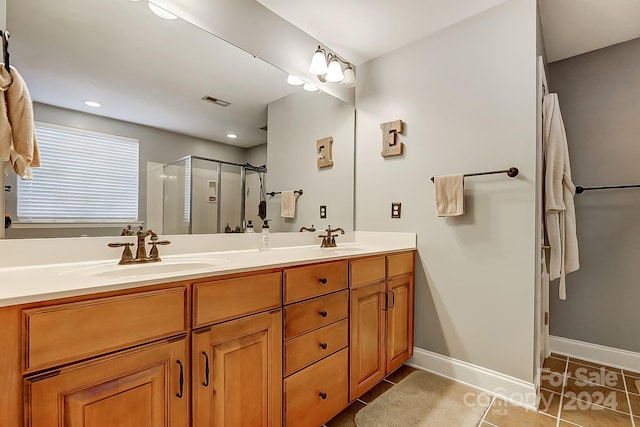
[[[583,187],[640,184],[640,39],[549,64]],[[580,270],[551,291],[551,333],[640,352],[640,189],[577,195]]]

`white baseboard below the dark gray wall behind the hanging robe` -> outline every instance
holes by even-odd
[[[549,344],[554,353],[640,372],[640,353],[554,336],[549,337]]]

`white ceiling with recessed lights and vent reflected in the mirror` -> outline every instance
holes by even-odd
[[[157,17],[146,1],[7,0],[7,29],[11,64],[35,101],[240,147],[265,143],[267,104],[302,90],[253,55]]]

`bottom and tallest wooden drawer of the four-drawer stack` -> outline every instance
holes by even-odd
[[[284,380],[287,426],[318,427],[347,407],[347,354],[340,350]]]

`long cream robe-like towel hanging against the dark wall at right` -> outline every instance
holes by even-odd
[[[542,101],[543,151],[545,160],[545,230],[549,242],[549,276],[560,279],[560,299],[567,298],[565,275],[580,268],[576,213],[571,182],[569,146],[560,113],[558,95],[550,93]]]

